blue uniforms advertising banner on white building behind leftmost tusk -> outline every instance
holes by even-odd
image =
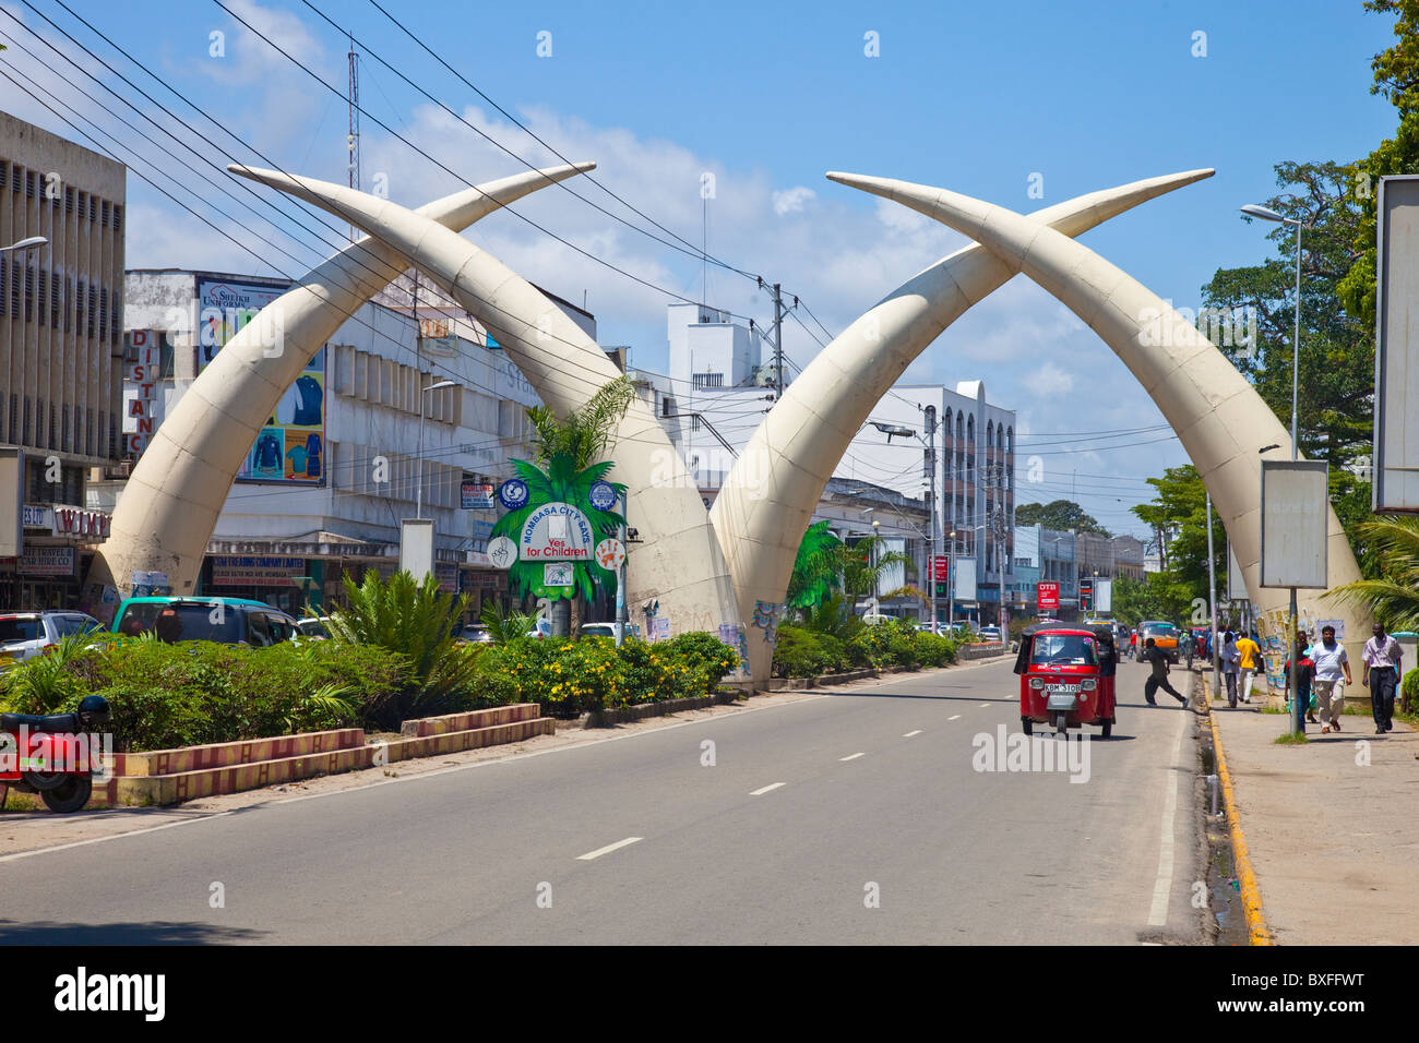
[[[281,297],[285,287],[200,280],[197,282],[197,370],[207,368],[221,346]],[[270,329],[267,351],[285,351],[284,331]],[[237,481],[282,485],[325,484],[325,348],[315,352],[301,376],[277,403]]]

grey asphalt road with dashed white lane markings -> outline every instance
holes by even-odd
[[[0,941],[1196,941],[1198,718],[1144,677],[1073,772],[978,771],[1002,660],[0,861]]]

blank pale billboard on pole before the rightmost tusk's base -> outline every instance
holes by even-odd
[[[1330,467],[1261,461],[1261,586],[1325,589]]]

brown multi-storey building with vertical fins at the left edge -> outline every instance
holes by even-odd
[[[23,545],[0,607],[81,605],[108,531],[85,485],[121,450],[125,200],[122,163],[0,112],[0,447],[24,457],[0,488],[21,518],[0,545]]]

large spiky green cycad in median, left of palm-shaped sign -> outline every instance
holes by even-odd
[[[325,624],[331,640],[377,644],[407,657],[419,691],[406,711],[433,710],[474,680],[474,656],[455,643],[468,599],[440,592],[434,576],[416,583],[409,572],[397,572],[386,583],[369,569],[358,586],[345,578],[345,597],[348,607]]]

